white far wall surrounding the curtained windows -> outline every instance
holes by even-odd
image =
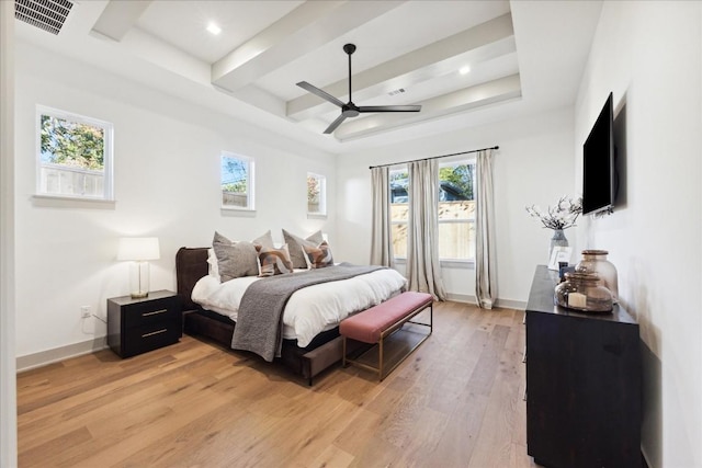
[[[548,261],[552,236],[524,207],[536,204],[545,208],[561,195],[579,195],[573,192],[573,109],[339,157],[337,232],[342,256],[356,263],[370,259],[370,165],[495,145],[500,148],[494,158],[498,304],[523,307],[535,265]],[[574,231],[567,230],[566,236],[575,241]],[[442,277],[450,297],[474,299],[473,267],[444,266]]]

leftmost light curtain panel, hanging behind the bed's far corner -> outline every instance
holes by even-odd
[[[389,168],[386,165],[372,168],[371,185],[373,190],[371,264],[394,267]]]

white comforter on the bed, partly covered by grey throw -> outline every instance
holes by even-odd
[[[192,299],[205,309],[236,321],[241,296],[258,279],[246,276],[219,283],[215,276],[204,276],[195,284]],[[349,313],[388,299],[405,283],[405,277],[395,270],[384,269],[298,289],[283,312],[283,338],[297,340],[297,345],[305,347],[317,334],[338,326]]]

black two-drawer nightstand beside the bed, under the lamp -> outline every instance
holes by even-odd
[[[176,293],[155,290],[139,299],[107,299],[107,344],[121,357],[177,343],[182,333],[181,301]]]

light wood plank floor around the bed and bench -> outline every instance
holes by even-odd
[[[530,467],[523,312],[443,303],[384,381],[337,366],[314,387],[183,336],[18,376],[21,467]]]

